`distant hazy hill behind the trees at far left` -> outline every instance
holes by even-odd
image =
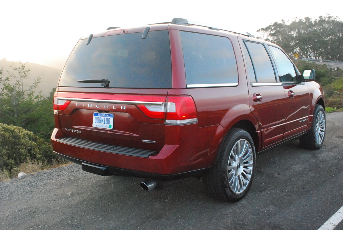
[[[10,66],[20,66],[20,63],[17,61],[7,61],[4,59],[0,60],[0,69],[3,68],[2,79],[8,77],[8,72],[6,70],[9,70],[11,73],[14,74],[17,73],[13,71]],[[26,69],[30,69],[30,72],[28,75],[29,78],[24,80],[24,87],[27,85],[31,85],[37,77],[40,77],[40,80],[42,80],[42,82],[39,84],[39,91],[42,91],[43,96],[48,96],[52,89],[57,86],[57,82],[62,70],[29,62],[25,64],[25,67]],[[14,81],[14,79],[10,80]]]

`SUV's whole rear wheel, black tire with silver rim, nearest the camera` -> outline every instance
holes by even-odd
[[[219,200],[242,199],[252,183],[256,153],[253,140],[243,129],[233,128],[227,134],[218,159],[203,176],[206,190]]]

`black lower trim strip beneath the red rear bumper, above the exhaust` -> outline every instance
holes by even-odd
[[[149,179],[154,179],[154,180],[171,181],[171,180],[178,180],[178,179],[183,179],[183,178],[192,177],[192,176],[199,177],[206,170],[206,168],[204,168],[204,169],[198,169],[198,170],[193,170],[193,171],[188,171],[188,172],[183,172],[183,173],[156,174],[156,173],[120,169],[120,168],[110,167],[106,165],[95,164],[92,162],[87,162],[84,160],[68,157],[56,151],[54,151],[54,153],[63,159],[66,159],[68,161],[71,161],[77,164],[81,164],[82,169],[84,171],[102,175],[102,176],[108,176],[108,175],[134,176],[134,177],[149,178]]]

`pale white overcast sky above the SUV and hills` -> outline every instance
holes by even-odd
[[[330,14],[343,20],[341,0],[2,0],[0,60],[33,62],[62,69],[76,42],[110,26],[130,27],[173,18],[235,32],[256,31],[295,17]],[[1,69],[1,66],[0,66]]]

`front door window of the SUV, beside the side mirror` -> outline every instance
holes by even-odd
[[[279,79],[281,82],[294,82],[297,81],[295,78],[295,70],[293,63],[288,57],[282,52],[281,49],[274,46],[269,46],[270,51],[275,59],[277,72],[279,73]]]

